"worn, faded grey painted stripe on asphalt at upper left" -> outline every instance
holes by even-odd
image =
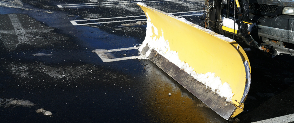
[[[15,34],[20,43],[27,43],[30,44],[28,38],[25,36],[26,33],[24,31],[23,26],[20,24],[19,19],[17,18],[16,14],[8,14],[8,17],[11,20],[11,24],[15,30]]]

